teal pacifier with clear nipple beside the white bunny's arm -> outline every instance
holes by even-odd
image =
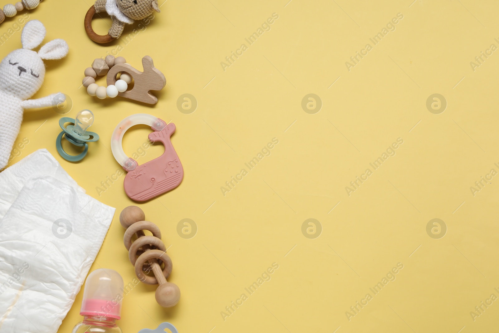
[[[95,132],[88,132],[87,128],[92,126],[94,116],[90,110],[82,110],[76,115],[76,119],[69,117],[62,117],[59,119],[59,126],[62,128],[62,132],[59,133],[57,139],[55,139],[55,146],[57,151],[63,159],[69,162],[78,162],[87,155],[88,143],[95,142],[99,140],[99,135]],[[72,125],[64,126],[66,123],[71,123]],[[67,141],[71,142],[75,146],[85,147],[83,152],[79,155],[69,155],[62,149],[62,137],[65,137]]]

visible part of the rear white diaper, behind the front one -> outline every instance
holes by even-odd
[[[48,150],[38,149],[0,172],[0,220],[28,179],[40,175],[52,176],[85,193],[85,190],[62,169]]]

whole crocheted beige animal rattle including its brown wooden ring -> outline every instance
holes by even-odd
[[[146,18],[154,10],[160,12],[158,0],[97,0],[85,15],[85,31],[96,43],[108,43],[121,36],[125,24],[132,24],[134,19]],[[104,11],[111,16],[113,23],[107,35],[99,35],[92,28],[92,18]]]

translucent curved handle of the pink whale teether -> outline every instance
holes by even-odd
[[[135,169],[138,163],[125,154],[122,141],[125,132],[135,125],[148,125],[155,131],[161,131],[165,128],[166,122],[147,113],[136,113],[126,117],[116,126],[111,136],[111,151],[116,162],[127,171]]]

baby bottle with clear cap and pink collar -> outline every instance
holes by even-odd
[[[72,333],[122,333],[116,325],[122,299],[123,279],[118,272],[101,268],[90,273],[81,301],[83,321]]]

